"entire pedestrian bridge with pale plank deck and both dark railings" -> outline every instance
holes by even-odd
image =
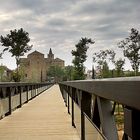
[[[139,85],[139,77],[1,83],[0,140],[139,140]]]

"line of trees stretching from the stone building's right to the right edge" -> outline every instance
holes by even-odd
[[[87,58],[88,45],[94,44],[91,38],[81,38],[72,50],[74,57],[72,66],[58,70],[59,79],[63,80],[84,80],[86,79],[84,62]],[[93,69],[91,78],[112,78],[138,76],[140,65],[140,34],[137,29],[132,28],[129,36],[118,42],[117,47],[123,52],[123,57],[117,58],[115,50],[100,50],[93,53]],[[133,71],[125,71],[126,60],[130,61]],[[110,68],[114,66],[114,69]],[[51,68],[52,69],[52,68]],[[50,70],[52,71],[52,70]],[[61,72],[60,72],[61,71]],[[55,75],[56,75],[55,71]],[[61,74],[60,74],[61,73]],[[61,75],[61,76],[60,76]],[[51,75],[52,76],[52,75]]]

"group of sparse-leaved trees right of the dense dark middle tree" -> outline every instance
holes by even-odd
[[[100,50],[93,54],[93,62],[97,64],[97,77],[122,77],[138,76],[140,65],[140,34],[139,31],[132,28],[127,38],[117,44],[117,47],[123,52],[123,58],[117,58],[114,50]],[[127,58],[133,71],[124,71],[125,58]],[[110,70],[109,66],[114,65]]]

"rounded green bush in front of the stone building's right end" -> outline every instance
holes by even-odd
[[[51,66],[48,69],[47,76],[48,80],[52,80],[52,78],[54,78],[55,82],[62,81],[64,77],[64,70],[59,66]]]

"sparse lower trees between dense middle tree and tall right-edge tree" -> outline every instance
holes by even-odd
[[[125,60],[122,58],[116,60],[115,56],[114,50],[100,50],[98,53],[93,54],[93,62],[97,62],[102,78],[123,76]],[[107,62],[110,61],[114,64],[115,70],[109,70]]]

